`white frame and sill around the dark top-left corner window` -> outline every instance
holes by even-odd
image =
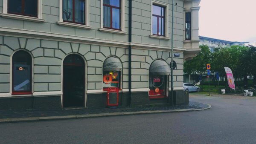
[[[42,19],[42,0],[38,0],[38,17],[29,17],[24,15],[18,15],[18,14],[8,14],[8,0],[3,0],[3,13],[0,13],[0,16],[17,19],[17,20],[27,20],[27,21],[43,23],[44,19]]]

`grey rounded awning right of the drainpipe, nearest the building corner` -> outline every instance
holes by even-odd
[[[164,60],[154,60],[150,65],[149,72],[153,75],[170,75],[171,69]]]

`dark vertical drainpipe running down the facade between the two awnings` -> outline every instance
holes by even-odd
[[[128,71],[128,88],[129,88],[129,97],[130,97],[130,103],[129,106],[131,107],[131,7],[132,7],[132,0],[129,0],[129,55],[128,55],[128,66],[129,66],[129,71]]]

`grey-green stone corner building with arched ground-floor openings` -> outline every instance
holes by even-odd
[[[174,0],[172,96],[172,0],[0,0],[0,109],[188,104],[199,3]]]

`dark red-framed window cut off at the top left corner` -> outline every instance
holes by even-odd
[[[8,0],[8,13],[38,17],[38,0]]]

